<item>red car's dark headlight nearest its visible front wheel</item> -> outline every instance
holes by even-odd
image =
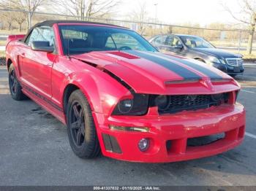
[[[125,99],[120,101],[113,115],[143,115],[148,112],[148,95],[137,94],[133,95],[133,99]]]

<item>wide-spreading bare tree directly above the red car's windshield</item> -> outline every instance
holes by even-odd
[[[109,15],[119,4],[119,0],[56,0],[58,6],[78,20],[90,20],[91,17]]]

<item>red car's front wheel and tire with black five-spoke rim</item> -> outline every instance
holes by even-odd
[[[91,107],[80,90],[75,90],[67,104],[67,135],[72,151],[80,158],[94,158],[100,147]]]

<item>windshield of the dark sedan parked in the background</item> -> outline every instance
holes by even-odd
[[[197,36],[181,36],[182,42],[187,45],[187,47],[192,48],[214,48],[214,46],[207,42],[205,39]]]

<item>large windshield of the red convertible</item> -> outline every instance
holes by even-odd
[[[59,30],[65,55],[106,50],[157,51],[135,31],[123,28],[67,25],[59,26]]]

